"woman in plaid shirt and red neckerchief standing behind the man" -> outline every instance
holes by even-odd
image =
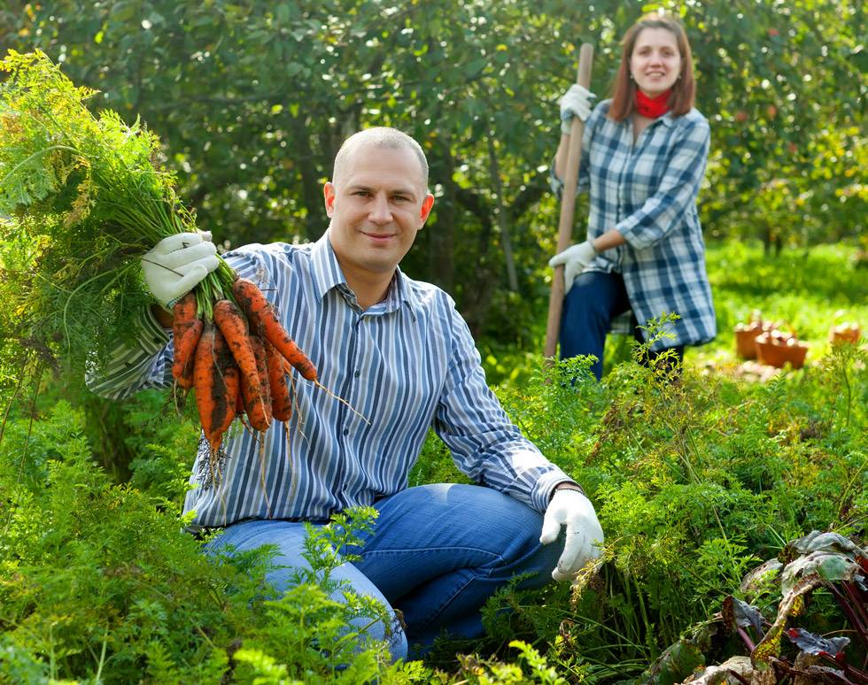
[[[675,19],[651,14],[624,35],[614,96],[591,109],[593,93],[573,85],[562,97],[562,136],[552,169],[560,193],[570,119],[585,121],[579,189],[589,189],[588,239],[556,255],[566,295],[561,357],[590,354],[602,375],[612,324],[632,310],[639,341],[648,319],[674,312],[652,357],[716,335],[696,196],[709,154],[709,122],[694,107],[690,45]]]

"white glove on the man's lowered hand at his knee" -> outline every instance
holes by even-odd
[[[554,492],[551,503],[543,517],[542,535],[539,542],[553,543],[567,527],[563,553],[552,571],[555,581],[575,580],[585,564],[602,553],[603,529],[591,500],[578,490],[559,489]]]

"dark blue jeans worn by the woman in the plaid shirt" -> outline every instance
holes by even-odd
[[[612,328],[612,320],[630,309],[624,277],[620,273],[585,271],[573,281],[570,292],[563,298],[561,317],[561,358],[593,354],[597,361],[591,371],[599,381],[603,375],[603,348],[606,335]],[[634,319],[635,320],[635,319]],[[639,327],[633,327],[633,337],[645,342]],[[684,346],[672,347],[678,364],[684,358]],[[648,359],[663,354],[650,352]]]

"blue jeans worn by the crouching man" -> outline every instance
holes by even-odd
[[[484,630],[480,607],[495,590],[519,573],[529,573],[519,587],[551,581],[563,543],[539,543],[542,514],[497,490],[476,485],[438,483],[409,488],[374,503],[379,512],[373,534],[350,551],[360,556],[333,573],[360,595],[376,598],[403,613],[407,635],[396,627],[392,658],[423,654],[446,631],[472,638]],[[303,523],[282,520],[242,521],[229,526],[212,546],[252,550],[271,543],[279,548],[275,564],[308,567]],[[291,568],[277,568],[267,581],[279,589],[291,583]],[[341,591],[334,596],[340,601]],[[360,620],[358,627],[368,625]],[[367,634],[385,639],[381,624]]]

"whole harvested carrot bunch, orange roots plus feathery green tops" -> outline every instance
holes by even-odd
[[[195,231],[195,216],[138,120],[92,114],[97,91],[76,87],[41,51],[10,50],[0,72],[0,364],[99,366],[104,346],[131,335],[153,302],[142,254]],[[174,313],[174,376],[196,388],[213,450],[242,410],[260,430],[286,416],[287,358],[316,378],[259,289],[222,259]]]

